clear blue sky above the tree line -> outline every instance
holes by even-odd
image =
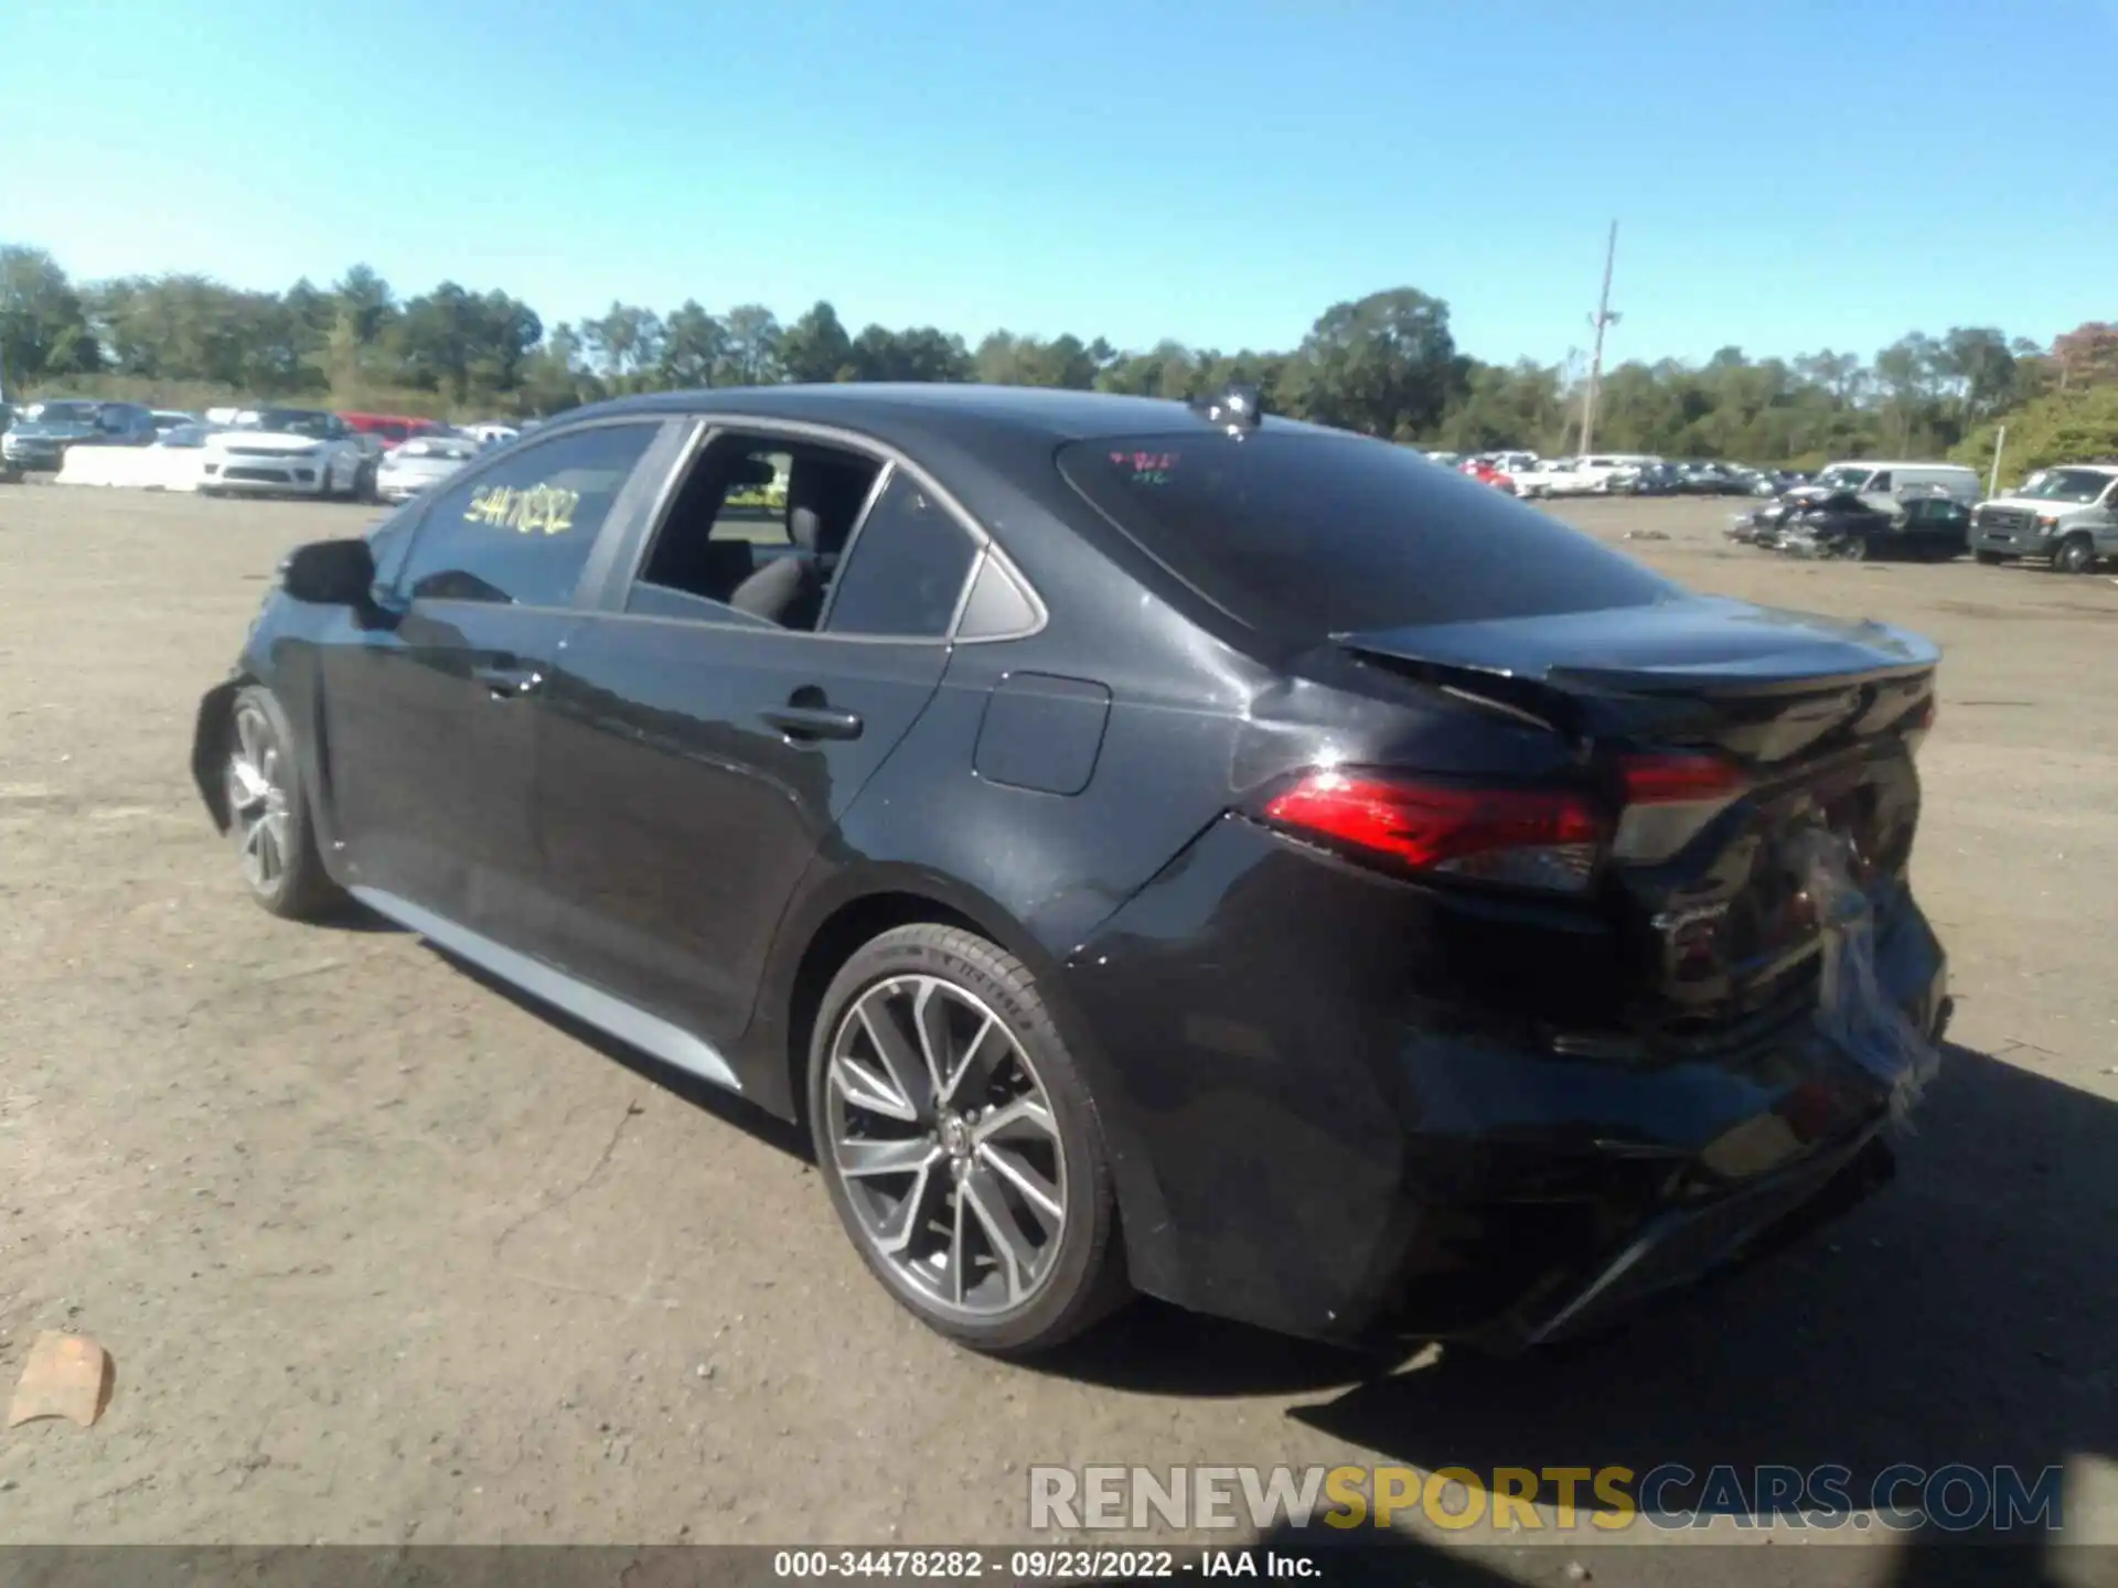
[[[1616,216],[1612,358],[2118,318],[2118,0],[6,11],[0,239],[78,277],[1222,349],[1417,286],[1550,360]]]

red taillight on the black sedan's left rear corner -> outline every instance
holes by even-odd
[[[1576,790],[1461,788],[1375,773],[1309,773],[1262,811],[1273,826],[1415,872],[1586,891],[1608,824]]]

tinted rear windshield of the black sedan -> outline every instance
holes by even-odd
[[[1538,508],[1358,436],[1123,436],[1059,472],[1154,561],[1288,639],[1680,597]]]

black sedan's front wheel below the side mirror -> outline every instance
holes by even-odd
[[[294,730],[269,688],[250,684],[229,707],[229,832],[250,898],[290,921],[313,921],[345,902],[316,851],[309,790]]]

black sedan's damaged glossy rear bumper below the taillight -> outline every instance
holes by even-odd
[[[1423,963],[1466,934],[1440,908],[1224,824],[1074,957],[1139,1289],[1315,1338],[1538,1345],[1885,1177],[1879,1135],[1946,1021],[1946,957],[1908,894],[1841,968],[1879,1021],[1826,1029],[1811,991],[1667,1061],[1472,1018],[1470,991],[1502,997],[1478,974],[1523,1004],[1605,972],[1593,944],[1540,953],[1510,923]]]

